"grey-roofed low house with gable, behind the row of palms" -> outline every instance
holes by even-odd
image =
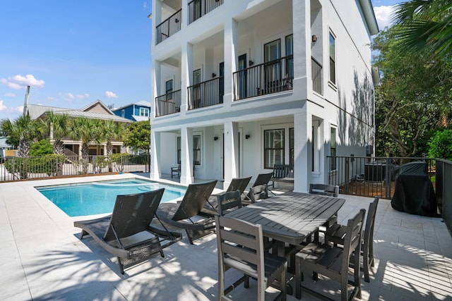
[[[40,106],[37,104],[26,104],[24,108],[24,113],[27,113],[32,119],[39,119],[44,116],[45,113],[52,111],[57,114],[66,114],[70,117],[86,117],[92,119],[100,119],[100,120],[112,120],[117,121],[119,123],[130,123],[126,118],[121,118],[119,116],[114,115],[112,111],[110,111],[105,104],[103,104],[100,100],[93,102],[92,104],[88,104],[84,108],[80,110],[75,109],[64,109],[57,108],[54,106]],[[52,134],[51,134],[52,136]],[[52,137],[49,137],[52,142]],[[69,137],[63,140],[64,146],[66,147],[66,155],[77,155],[81,156],[82,142],[78,140],[71,140]],[[121,153],[122,145],[124,142],[121,141],[113,141],[113,153]],[[90,155],[103,155],[107,152],[106,144],[100,143],[95,144],[91,143],[89,145]]]

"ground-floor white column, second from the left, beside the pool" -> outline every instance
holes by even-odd
[[[181,184],[193,182],[193,129],[181,128]]]

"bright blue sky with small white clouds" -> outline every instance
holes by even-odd
[[[0,0],[0,119],[30,104],[150,102],[151,0]],[[380,29],[388,6],[372,0]]]

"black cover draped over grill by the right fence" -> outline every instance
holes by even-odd
[[[410,214],[439,216],[427,162],[410,162],[398,168],[391,206]]]

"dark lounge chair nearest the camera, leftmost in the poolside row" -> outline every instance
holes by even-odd
[[[118,195],[113,213],[90,221],[75,221],[81,228],[80,239],[88,234],[107,252],[118,258],[119,271],[143,262],[151,255],[182,239],[182,233],[150,226],[165,188],[136,195]]]

